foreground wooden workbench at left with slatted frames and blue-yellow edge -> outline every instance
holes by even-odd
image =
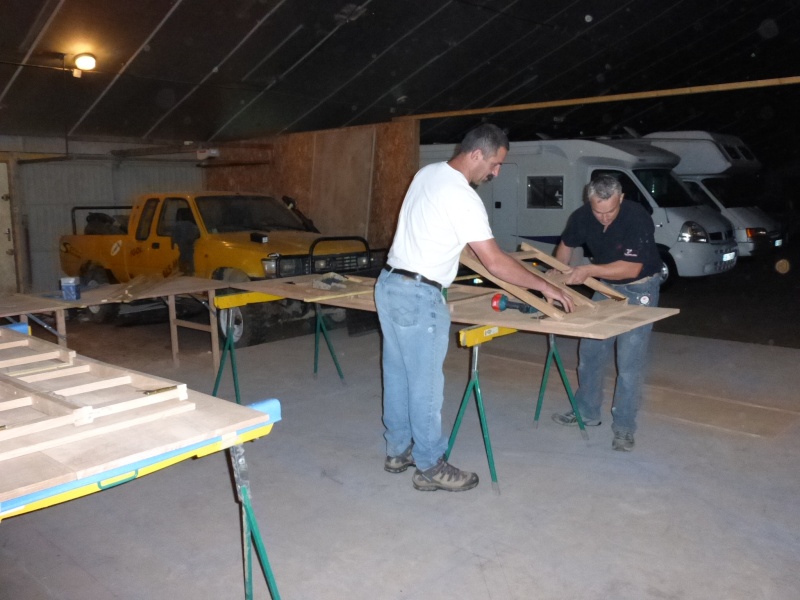
[[[269,413],[0,329],[0,519],[269,433]]]

